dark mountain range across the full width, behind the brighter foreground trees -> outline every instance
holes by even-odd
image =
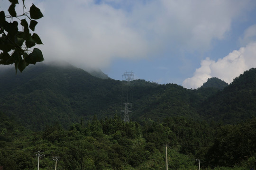
[[[128,108],[132,121],[183,116],[235,123],[255,115],[255,72],[250,69],[222,91],[191,90],[140,79],[127,86],[125,81],[98,78],[72,65],[40,63],[17,75],[12,69],[0,71],[0,111],[33,130],[56,122],[69,127],[94,115],[98,119],[123,117],[124,102],[132,103]]]

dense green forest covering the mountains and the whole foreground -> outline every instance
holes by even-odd
[[[99,73],[100,77],[102,73]],[[256,69],[198,89],[123,81],[71,65],[0,70],[4,170],[245,170],[256,167]]]

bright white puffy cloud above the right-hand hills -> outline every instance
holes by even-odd
[[[206,58],[201,61],[201,68],[197,68],[194,76],[183,81],[185,88],[197,88],[210,77],[218,77],[227,83],[244,71],[256,67],[256,42],[249,43],[238,51],[232,51],[223,59],[217,61]]]

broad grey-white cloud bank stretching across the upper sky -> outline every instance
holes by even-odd
[[[223,39],[249,1],[43,0],[36,27],[46,60],[108,67],[113,59],[142,59],[162,51],[207,51]],[[224,16],[224,17],[223,17]]]

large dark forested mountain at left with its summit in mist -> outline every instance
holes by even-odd
[[[95,114],[95,108],[105,109],[103,101],[111,103],[107,99],[116,97],[108,86],[114,80],[91,76],[71,65],[38,64],[17,75],[6,69],[0,79],[0,110],[31,128],[41,129],[53,122],[66,127]]]

